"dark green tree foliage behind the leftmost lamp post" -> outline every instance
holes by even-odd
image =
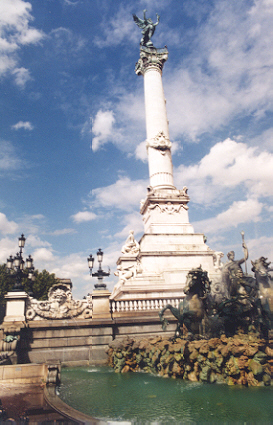
[[[49,273],[47,270],[39,272],[34,271],[35,280],[30,281],[27,278],[27,272],[24,272],[23,287],[30,294],[33,292],[33,297],[37,300],[46,300],[49,288],[58,282],[54,273]],[[12,291],[15,283],[14,275],[7,269],[6,264],[0,265],[0,303],[4,301],[4,296],[7,292]]]

